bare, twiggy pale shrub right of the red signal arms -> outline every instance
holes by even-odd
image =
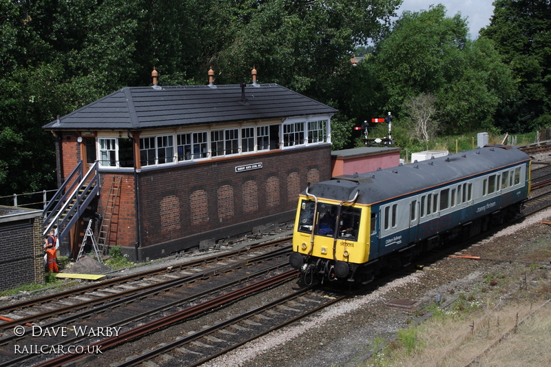
[[[439,130],[435,120],[438,111],[436,98],[432,94],[419,94],[404,103],[404,114],[408,133],[413,138],[428,142]]]

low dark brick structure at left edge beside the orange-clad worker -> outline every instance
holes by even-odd
[[[42,222],[38,213],[33,218],[0,223],[0,247],[8,249],[0,260],[0,291],[44,282]]]

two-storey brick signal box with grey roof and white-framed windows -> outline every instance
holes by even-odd
[[[103,216],[100,242],[143,261],[292,220],[307,182],[331,177],[337,111],[255,76],[160,87],[154,75],[152,87],[125,87],[43,127],[56,134],[60,187],[80,180],[70,176],[80,161],[83,175],[94,171],[81,202]],[[87,224],[75,213],[57,220],[72,257]]]

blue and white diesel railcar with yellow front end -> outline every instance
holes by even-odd
[[[530,156],[510,146],[334,177],[300,194],[289,261],[305,280],[368,282],[513,218],[529,193]]]

